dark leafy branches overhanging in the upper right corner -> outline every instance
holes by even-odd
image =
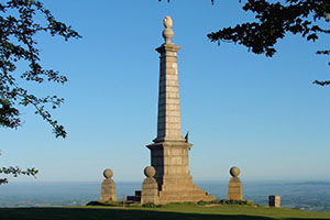
[[[299,34],[314,42],[321,34],[330,34],[330,30],[321,25],[322,21],[329,22],[328,0],[285,0],[274,3],[266,0],[248,0],[243,10],[255,13],[255,21],[210,33],[208,37],[211,42],[242,44],[255,54],[272,57],[276,53],[275,44],[284,38],[286,33]],[[329,52],[318,51],[317,54],[329,55]],[[326,86],[330,80],[314,82]]]

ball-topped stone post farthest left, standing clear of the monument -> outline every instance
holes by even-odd
[[[110,168],[107,168],[103,172],[103,176],[106,179],[102,182],[100,201],[116,201],[116,185],[111,178],[113,176],[113,172]]]

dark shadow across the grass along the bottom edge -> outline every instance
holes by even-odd
[[[130,210],[130,209],[1,208],[0,219],[1,220],[16,220],[16,219],[18,220],[41,220],[41,219],[43,220],[85,220],[85,219],[274,220],[276,218],[244,216],[244,215],[178,213],[178,212],[167,212],[167,211]],[[302,220],[302,219],[305,218],[286,218],[286,220]],[[312,219],[318,220],[315,218]]]

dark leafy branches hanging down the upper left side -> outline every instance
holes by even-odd
[[[44,21],[36,22],[36,15]],[[42,24],[43,23],[43,24]],[[41,65],[40,50],[35,35],[44,32],[51,36],[63,36],[65,41],[80,35],[65,23],[56,21],[50,10],[37,0],[8,0],[0,3],[0,127],[21,125],[18,106],[33,106],[35,113],[47,121],[56,138],[66,136],[64,127],[54,120],[46,109],[56,109],[64,101],[57,96],[37,97],[19,85],[18,78],[42,84],[44,81],[65,84],[67,78]],[[16,73],[19,62],[28,64],[28,69]]]

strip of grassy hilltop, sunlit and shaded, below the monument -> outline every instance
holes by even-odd
[[[169,204],[158,208],[143,207],[66,207],[66,208],[1,208],[1,220],[302,220],[329,219],[330,213],[296,209],[221,205],[212,207],[195,204]]]

